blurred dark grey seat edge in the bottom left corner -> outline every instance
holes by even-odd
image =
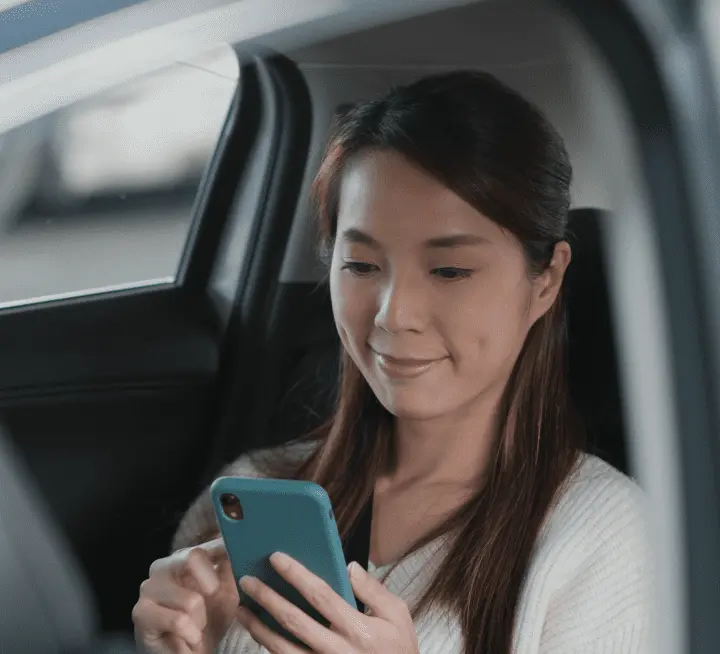
[[[0,652],[135,652],[126,638],[100,637],[78,562],[2,428],[0,486]]]

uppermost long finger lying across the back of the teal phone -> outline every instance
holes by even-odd
[[[335,629],[346,633],[349,627],[357,623],[362,614],[353,610],[324,579],[310,572],[302,563],[281,552],[273,554],[270,562],[280,576],[297,588]]]

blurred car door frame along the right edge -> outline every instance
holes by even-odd
[[[622,89],[649,207],[651,238],[617,259],[647,248],[655,264],[614,292],[632,458],[655,518],[658,644],[709,654],[720,647],[718,5],[560,4]]]

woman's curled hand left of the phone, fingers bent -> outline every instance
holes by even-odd
[[[150,566],[133,608],[147,654],[212,654],[240,601],[222,539],[179,550]]]

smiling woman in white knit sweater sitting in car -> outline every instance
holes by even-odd
[[[427,77],[339,119],[314,188],[337,410],[223,471],[320,483],[343,535],[374,490],[371,565],[351,575],[368,615],[292,561],[273,565],[332,630],[243,586],[311,651],[649,651],[642,495],[582,452],[566,387],[570,179],[555,130],[486,74]],[[214,532],[205,493],[176,536],[186,549],[142,586],[138,640],[301,651],[239,612]]]

